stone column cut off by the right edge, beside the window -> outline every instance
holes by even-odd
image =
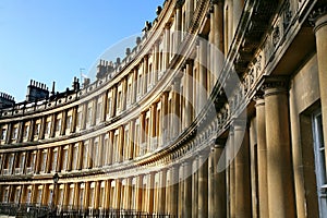
[[[318,60],[318,75],[319,75],[319,90],[322,101],[322,116],[323,116],[323,132],[324,144],[327,145],[327,7],[320,8],[314,11],[313,17],[315,22],[315,36],[317,47],[317,60]],[[325,149],[325,156],[327,157],[327,149]],[[327,173],[327,161],[326,161]]]

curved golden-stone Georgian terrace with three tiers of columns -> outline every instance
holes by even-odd
[[[95,82],[1,94],[1,202],[326,217],[326,1],[166,0],[157,15]]]

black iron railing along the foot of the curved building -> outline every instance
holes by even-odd
[[[164,214],[148,214],[136,210],[125,209],[94,209],[94,208],[77,208],[74,206],[44,206],[38,204],[14,204],[0,203],[0,215],[15,216],[15,217],[136,217],[136,218],[173,218],[171,215]]]

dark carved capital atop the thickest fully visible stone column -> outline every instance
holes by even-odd
[[[287,76],[265,77],[262,89],[265,92],[264,97],[287,93],[289,78]]]

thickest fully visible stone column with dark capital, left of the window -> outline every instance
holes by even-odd
[[[295,217],[291,167],[288,81],[267,78],[265,116],[269,217]]]

